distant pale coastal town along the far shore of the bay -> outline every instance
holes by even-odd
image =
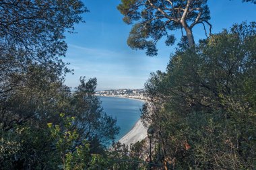
[[[145,94],[145,89],[111,89],[96,91],[96,95],[98,96],[126,97],[132,99],[146,99]]]

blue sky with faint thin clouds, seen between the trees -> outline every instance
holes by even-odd
[[[256,5],[242,0],[209,0],[212,33],[230,28],[243,21],[253,22]],[[76,34],[66,34],[68,50],[65,62],[74,74],[66,76],[69,87],[79,85],[79,77],[97,78],[96,90],[142,89],[150,73],[165,71],[175,46],[166,46],[164,40],[157,44],[158,56],[146,56],[143,50],[132,50],[127,45],[131,26],[122,20],[117,10],[121,0],[84,0],[89,13],[83,14],[86,23],[75,25]],[[180,31],[174,32],[177,40]],[[205,38],[202,26],[193,28],[195,41]]]

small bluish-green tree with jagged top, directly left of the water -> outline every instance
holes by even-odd
[[[91,151],[97,151],[100,146],[108,146],[119,133],[117,120],[108,116],[101,107],[100,99],[95,95],[97,80],[80,78],[80,85],[72,95],[71,106],[73,116],[77,117],[76,125],[82,138],[86,138]],[[72,113],[71,113],[72,114]]]

